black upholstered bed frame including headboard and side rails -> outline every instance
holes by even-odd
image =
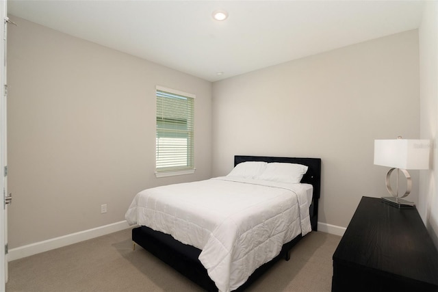
[[[309,211],[312,230],[317,230],[318,199],[320,198],[321,189],[321,159],[243,155],[236,155],[234,157],[234,165],[244,161],[299,163],[307,165],[309,169],[305,176],[302,177],[301,183],[309,183],[313,185],[313,199]],[[292,239],[292,241],[285,243],[278,256],[256,269],[248,280],[236,291],[244,291],[246,287],[257,280],[257,278],[274,265],[274,263],[280,258],[289,260],[289,250],[300,241],[301,238],[302,236],[298,235]],[[207,291],[218,291],[213,280],[209,278],[207,269],[205,269],[201,264],[201,261],[198,260],[198,256],[201,254],[201,250],[198,248],[194,248],[192,245],[185,245],[175,240],[172,236],[152,230],[147,226],[133,228],[132,240]]]

